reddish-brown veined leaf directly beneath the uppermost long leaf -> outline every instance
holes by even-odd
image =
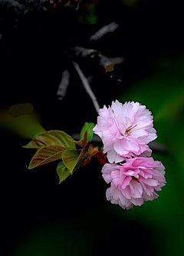
[[[51,161],[56,161],[61,159],[61,153],[66,148],[58,145],[50,145],[44,148],[38,149],[33,158],[31,158],[28,169],[32,169],[41,165],[50,163]]]

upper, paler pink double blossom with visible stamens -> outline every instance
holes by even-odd
[[[101,138],[110,163],[137,155],[150,156],[147,144],[157,137],[151,112],[133,101],[122,104],[116,100],[111,108],[100,108],[94,133]]]

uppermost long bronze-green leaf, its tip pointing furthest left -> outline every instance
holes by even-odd
[[[64,131],[45,131],[35,136],[24,148],[43,148],[49,145],[58,145],[64,148],[75,148],[74,141]]]

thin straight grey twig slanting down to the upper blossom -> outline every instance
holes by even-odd
[[[72,62],[73,65],[74,65],[74,68],[76,69],[79,77],[81,78],[81,81],[82,81],[82,84],[85,88],[85,90],[87,91],[87,94],[90,96],[91,100],[93,101],[94,103],[94,108],[96,109],[97,113],[100,109],[100,106],[98,105],[98,102],[97,102],[97,98],[95,97],[94,95],[94,92],[91,90],[90,88],[90,85],[87,81],[87,78],[84,76],[83,72],[81,71],[81,68],[79,67],[79,65],[77,64],[77,62]]]

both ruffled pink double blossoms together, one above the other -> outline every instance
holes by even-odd
[[[110,183],[107,200],[130,209],[157,198],[156,191],[166,185],[165,168],[151,158],[148,144],[157,136],[146,106],[113,101],[111,107],[100,108],[94,133],[101,138],[109,161],[102,168],[104,180]]]

